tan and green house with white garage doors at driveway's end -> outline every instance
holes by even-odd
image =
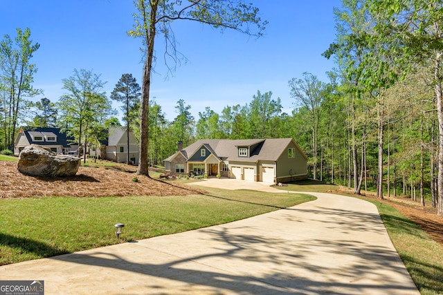
[[[307,157],[292,138],[198,140],[165,159],[165,173],[221,175],[260,182],[307,178]]]

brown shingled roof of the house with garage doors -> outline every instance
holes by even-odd
[[[228,161],[241,161],[241,162],[257,162],[259,160],[276,161],[280,158],[280,155],[286,151],[287,146],[293,142],[296,148],[300,151],[303,158],[307,160],[305,153],[302,152],[300,146],[292,138],[268,138],[268,139],[255,139],[255,140],[197,140],[193,144],[190,144],[185,149],[182,149],[178,153],[189,159],[204,146],[213,155],[221,160]],[[256,146],[251,155],[248,158],[238,156],[239,147],[251,147]],[[178,153],[165,159],[166,162],[170,162],[175,158]],[[189,155],[189,157],[188,157]]]

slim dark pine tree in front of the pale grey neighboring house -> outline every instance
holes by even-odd
[[[137,83],[137,79],[132,77],[132,74],[123,74],[118,80],[116,87],[111,93],[111,99],[123,103],[121,109],[125,116],[123,120],[126,122],[127,135],[127,159],[126,164],[129,164],[129,131],[131,131],[131,124],[139,117],[141,88]]]

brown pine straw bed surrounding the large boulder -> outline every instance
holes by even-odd
[[[138,182],[132,179],[136,177]],[[80,166],[69,178],[24,175],[17,162],[0,161],[0,198],[35,198],[42,196],[186,196],[203,191],[181,184],[136,175],[135,171],[100,166]]]

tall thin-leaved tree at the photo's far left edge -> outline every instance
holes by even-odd
[[[30,64],[33,53],[40,47],[30,39],[30,30],[17,28],[15,44],[9,35],[0,42],[0,85],[3,97],[3,134],[7,149],[14,149],[15,132],[24,105],[24,97],[33,97],[39,91],[32,86],[35,64]]]

